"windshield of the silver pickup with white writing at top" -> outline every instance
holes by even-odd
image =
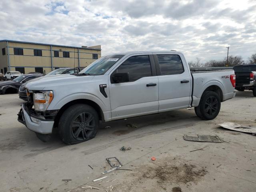
[[[103,56],[84,68],[79,74],[103,75],[124,55]]]

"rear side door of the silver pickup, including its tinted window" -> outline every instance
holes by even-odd
[[[156,54],[159,74],[159,112],[187,108],[190,104],[192,80],[186,61],[179,54]]]

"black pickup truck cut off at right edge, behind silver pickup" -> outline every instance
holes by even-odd
[[[256,64],[242,64],[233,67],[236,74],[236,90],[252,90],[256,96]]]

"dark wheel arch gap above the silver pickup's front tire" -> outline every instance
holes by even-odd
[[[88,100],[88,99],[76,99],[76,100],[72,100],[72,101],[66,103],[64,106],[62,106],[60,108],[60,110],[58,111],[58,113],[57,113],[57,115],[54,119],[54,127],[58,127],[58,123],[59,123],[60,117],[62,116],[63,112],[67,108],[69,108],[70,106],[72,106],[74,104],[87,104],[87,105],[92,106],[96,110],[96,112],[98,113],[99,120],[104,121],[103,111],[96,102],[94,102],[92,100]]]

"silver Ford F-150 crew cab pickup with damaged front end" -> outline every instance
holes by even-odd
[[[57,130],[63,142],[77,144],[93,138],[100,121],[188,107],[211,120],[234,98],[235,81],[234,70],[191,71],[181,52],[111,54],[79,74],[27,82],[18,121],[41,140]]]

